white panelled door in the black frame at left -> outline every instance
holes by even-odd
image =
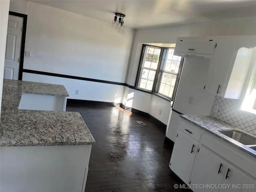
[[[23,18],[9,15],[4,61],[4,78],[18,80]]]

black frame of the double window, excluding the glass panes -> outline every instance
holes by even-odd
[[[153,82],[153,86],[152,86],[151,91],[139,87],[141,71],[142,71],[142,68],[143,68],[142,66],[144,64],[143,59],[144,59],[144,55],[146,54],[146,47],[160,48],[161,49],[159,60],[158,60],[158,66],[157,66],[157,69],[156,69],[156,75],[154,77],[154,82]],[[180,74],[182,72],[182,68],[183,68],[183,64],[184,64],[184,58],[182,57],[181,60],[180,60],[180,66],[179,66],[179,69],[178,69],[178,73],[173,74],[173,75],[176,75],[177,78],[176,78],[176,81],[175,81],[174,90],[172,92],[172,97],[169,97],[169,96],[166,96],[162,93],[159,93],[162,74],[164,73],[164,64],[165,64],[165,60],[166,60],[166,57],[167,57],[168,49],[169,48],[167,48],[167,47],[159,47],[159,46],[152,46],[152,45],[142,44],[142,50],[141,50],[141,53],[140,53],[140,61],[139,61],[139,65],[138,65],[138,71],[137,71],[137,76],[136,76],[136,81],[135,81],[134,86],[138,90],[142,90],[144,92],[148,92],[148,93],[152,93],[152,94],[161,96],[162,98],[164,98],[166,100],[174,101],[174,98],[175,98],[176,92],[177,92],[177,88],[178,88],[178,83],[180,81]],[[167,72],[167,73],[170,73],[170,72]],[[172,74],[172,73],[170,73],[170,74]]]

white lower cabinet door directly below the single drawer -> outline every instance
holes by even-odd
[[[190,178],[198,143],[178,132],[178,138],[174,143],[172,157],[170,160],[171,170],[178,175],[186,184]]]

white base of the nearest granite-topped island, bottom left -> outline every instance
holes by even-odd
[[[1,147],[1,192],[84,192],[91,148]]]

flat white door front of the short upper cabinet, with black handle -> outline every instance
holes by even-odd
[[[215,41],[177,41],[175,52],[212,54]]]

